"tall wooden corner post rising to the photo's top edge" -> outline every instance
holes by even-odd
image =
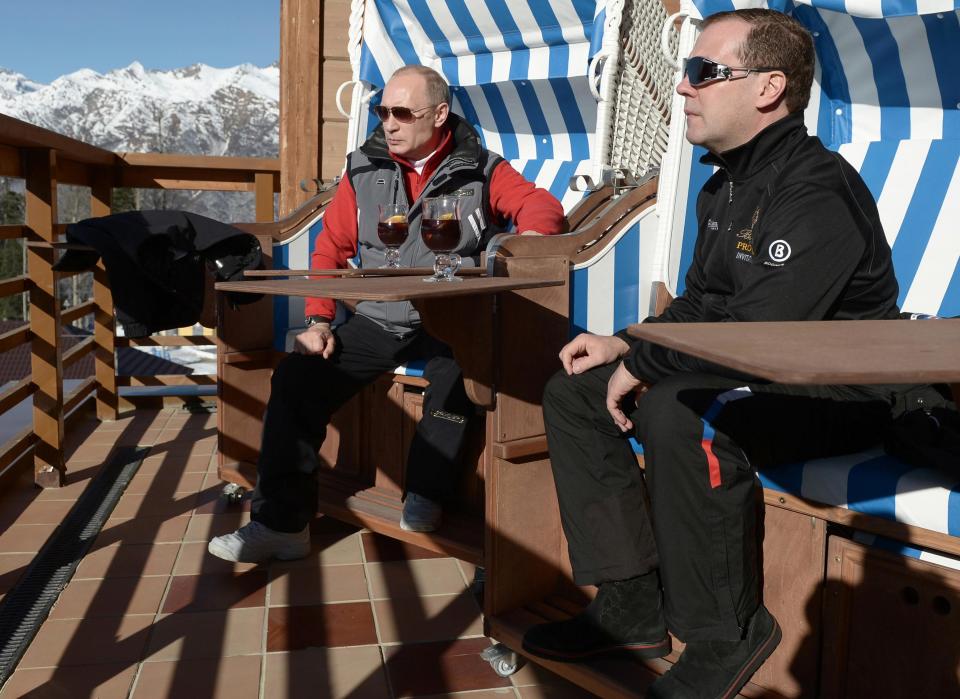
[[[320,176],[321,0],[280,3],[280,217],[310,198]],[[344,32],[345,33],[345,32]]]

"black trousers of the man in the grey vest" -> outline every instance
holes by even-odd
[[[474,408],[450,349],[423,331],[401,338],[359,315],[334,334],[337,348],[330,359],[290,354],[271,379],[251,517],[276,531],[300,531],[316,514],[317,452],[331,416],[404,362],[427,359],[424,377],[430,381],[407,457],[407,492],[442,500],[459,474]]]

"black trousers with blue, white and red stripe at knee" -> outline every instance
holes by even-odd
[[[644,447],[644,473],[605,407],[615,368],[561,372],[544,395],[574,580],[598,585],[659,568],[674,634],[736,640],[761,596],[754,467],[876,445],[891,392],[671,376],[624,405]]]

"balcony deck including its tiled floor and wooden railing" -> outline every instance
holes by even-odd
[[[0,344],[31,351],[31,375],[7,387],[0,414],[33,403],[32,427],[0,450],[0,599],[113,450],[150,448],[0,699],[591,696],[532,665],[497,676],[479,655],[490,640],[470,589],[474,571],[453,558],[331,519],[316,520],[302,561],[213,558],[209,538],[249,517],[249,507],[220,498],[216,415],[137,405],[114,419],[133,405],[121,399],[123,386],[210,384],[117,376],[117,348],[213,338],[117,337],[102,268],[94,298],[61,309],[58,281],[67,275],[52,269],[66,228],[58,186],[89,187],[91,216],[110,213],[115,187],[248,191],[257,220],[271,222],[278,161],[119,155],[3,115],[0,127],[0,176],[25,182],[25,220],[0,225],[0,238],[29,243],[29,275],[6,280],[0,296],[26,292],[30,304],[29,321]],[[291,221],[267,225],[294,225],[296,212]],[[61,326],[89,315],[94,337],[65,348]],[[94,375],[64,395],[65,367],[87,354]],[[74,410],[87,412],[67,420]]]

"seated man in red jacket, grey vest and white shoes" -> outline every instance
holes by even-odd
[[[381,205],[408,209],[405,267],[431,266],[420,239],[426,197],[460,197],[460,241],[453,251],[475,266],[487,241],[513,227],[523,234],[560,233],[563,209],[549,192],[525,180],[480,144],[477,133],[450,112],[450,92],[435,71],[407,66],[391,77],[381,104],[382,124],[347,157],[339,189],[323,220],[313,269],[379,267],[385,246],[377,236]],[[450,349],[420,327],[409,302],[361,302],[334,328],[332,299],[308,299],[307,329],[294,353],[274,372],[264,422],[251,522],[210,541],[209,551],[231,561],[305,556],[316,512],[317,451],[331,415],[351,396],[399,364],[427,360],[423,418],[407,457],[407,493],[400,525],[433,531],[450,492],[473,406]]]

